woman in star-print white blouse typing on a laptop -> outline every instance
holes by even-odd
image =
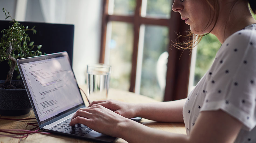
[[[187,99],[147,104],[94,101],[70,125],[82,123],[128,142],[256,142],[255,0],[174,0],[196,35],[222,43],[212,67]],[[207,47],[205,47],[207,48]],[[110,109],[110,110],[109,110]],[[184,122],[187,136],[152,129],[128,118]]]

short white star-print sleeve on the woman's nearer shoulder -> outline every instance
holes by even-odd
[[[231,35],[209,72],[200,111],[221,109],[252,130],[256,125],[256,30]]]

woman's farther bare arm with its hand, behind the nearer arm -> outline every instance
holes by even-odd
[[[115,100],[93,101],[88,107],[103,106],[126,118],[142,117],[159,122],[184,122],[182,109],[186,99],[157,103],[124,103]]]

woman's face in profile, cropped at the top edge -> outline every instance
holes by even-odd
[[[172,10],[181,14],[182,20],[190,25],[190,30],[195,34],[205,34],[212,29],[207,23],[212,19],[210,15],[213,16],[213,13],[210,14],[211,8],[206,0],[174,0]]]

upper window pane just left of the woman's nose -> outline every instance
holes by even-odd
[[[147,0],[146,17],[170,18],[172,0]]]

